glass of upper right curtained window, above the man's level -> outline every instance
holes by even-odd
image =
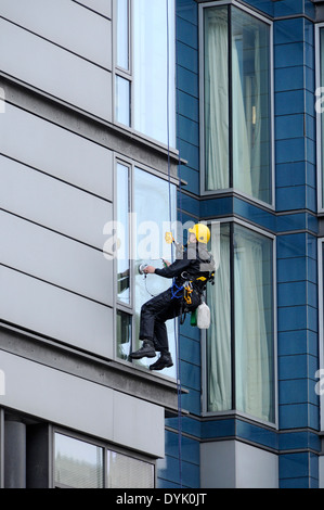
[[[270,204],[270,26],[222,5],[204,10],[204,33],[206,190],[233,187]]]

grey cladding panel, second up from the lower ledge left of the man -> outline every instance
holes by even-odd
[[[113,263],[89,247],[0,211],[0,263],[113,305]]]

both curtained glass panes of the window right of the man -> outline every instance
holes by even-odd
[[[211,237],[213,253],[217,242]],[[219,244],[215,285],[207,290],[207,411],[235,408],[274,422],[272,239],[221,224]]]

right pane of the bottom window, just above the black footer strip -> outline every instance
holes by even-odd
[[[107,451],[108,488],[154,488],[154,466]]]

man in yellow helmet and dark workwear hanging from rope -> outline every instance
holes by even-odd
[[[131,353],[130,357],[154,358],[156,350],[160,352],[158,360],[150,366],[150,370],[172,367],[165,322],[185,311],[194,311],[199,306],[207,281],[215,269],[212,255],[207,251],[210,238],[208,227],[196,224],[189,232],[187,247],[173,264],[167,264],[163,269],[146,266],[143,271],[145,275],[155,273],[173,279],[170,289],[153,297],[141,308],[139,336],[143,345]]]

